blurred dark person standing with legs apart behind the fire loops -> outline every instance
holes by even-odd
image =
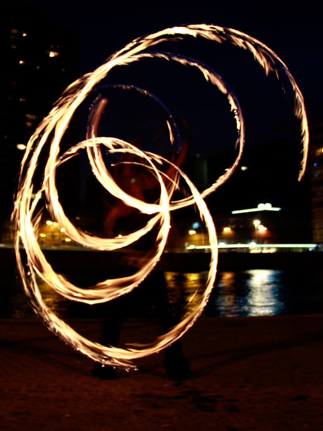
[[[183,145],[181,156],[177,160],[177,165],[180,166],[185,158],[186,145]],[[135,156],[123,156],[122,161],[128,163],[116,166],[113,171],[113,177],[119,187],[127,194],[145,202],[154,203],[160,197],[160,184],[148,169],[138,166],[135,163],[139,160]],[[129,163],[130,162],[130,163]],[[169,167],[166,174],[172,178],[175,173],[175,168]],[[166,177],[164,182],[167,185]],[[121,200],[115,203],[110,209],[107,217],[103,222],[103,230],[105,237],[115,237],[116,228],[135,231],[140,228],[140,225],[145,225],[149,216],[142,215],[137,209],[125,205]],[[136,225],[138,223],[138,225]],[[176,224],[171,222],[171,230],[169,232],[168,246],[176,248],[180,246],[179,232]],[[156,238],[155,227],[149,234],[144,235],[136,243],[137,250],[149,250],[154,246]],[[122,269],[122,276],[133,273],[133,267]],[[151,297],[155,312],[160,318],[163,331],[168,332],[179,321],[178,316],[170,315],[167,307],[167,292],[166,281],[163,271],[153,270],[147,278],[141,282],[129,294],[125,294],[106,304],[106,318],[103,325],[101,344],[105,346],[117,347],[121,333],[122,324],[127,315],[131,304],[141,302],[142,298]],[[164,360],[165,370],[169,373],[173,380],[183,380],[190,375],[190,364],[182,354],[182,340],[179,339],[165,350]],[[116,370],[113,367],[102,366],[96,363],[92,373],[103,379],[116,378]]]

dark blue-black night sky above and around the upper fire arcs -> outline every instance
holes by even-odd
[[[24,3],[53,9],[57,24],[80,32],[81,74],[100,66],[111,53],[135,37],[160,28],[206,22],[244,31],[267,44],[281,57],[304,95],[309,123],[322,122],[322,24],[320,10],[312,0],[304,2],[303,9],[294,1],[146,1],[129,5],[118,1],[25,0]],[[169,49],[181,52],[179,44],[177,42]],[[211,48],[201,47],[200,51],[192,52],[192,56],[213,67],[237,95],[246,120],[246,144],[279,138],[298,141],[299,135],[295,133],[292,119],[292,102],[284,99],[278,81],[274,77],[266,78],[259,66],[251,66],[254,60],[250,53],[235,47],[232,50],[227,45],[224,50],[216,45],[219,44],[213,43]],[[162,44],[157,49],[164,50]],[[187,84],[188,81],[184,82]],[[169,103],[172,105],[172,101]],[[213,145],[213,136],[217,134],[217,151],[223,151],[227,149],[226,130],[220,130],[221,125],[217,129],[215,123],[207,125],[212,123],[212,115],[216,115],[210,103],[193,108],[196,122],[201,120],[197,132],[203,131],[197,144],[203,141],[206,143],[204,147],[208,148]],[[265,108],[260,109],[261,105]],[[229,125],[226,120],[222,123]]]

